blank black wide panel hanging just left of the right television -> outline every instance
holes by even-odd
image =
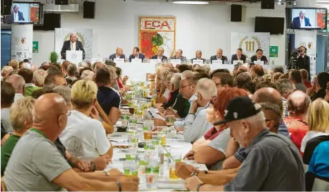
[[[285,19],[283,17],[255,17],[255,32],[283,34]]]

